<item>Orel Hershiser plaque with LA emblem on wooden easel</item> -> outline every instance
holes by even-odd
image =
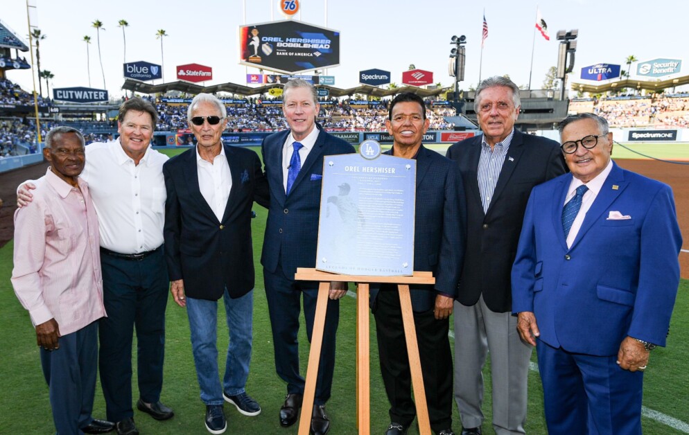
[[[366,276],[414,272],[416,161],[381,154],[324,157],[316,269]]]

